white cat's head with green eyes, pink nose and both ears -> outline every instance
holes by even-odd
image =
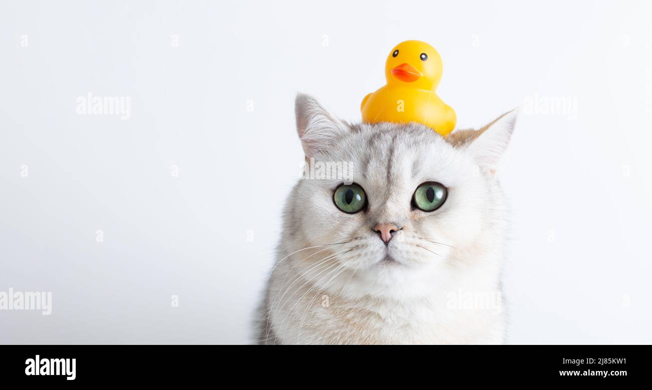
[[[285,229],[291,249],[316,249],[295,266],[318,277],[319,262],[334,263],[343,276],[316,284],[396,292],[503,245],[495,173],[516,113],[446,139],[421,124],[351,126],[303,94],[296,115],[308,167],[289,197]]]

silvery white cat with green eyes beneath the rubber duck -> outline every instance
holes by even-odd
[[[516,111],[445,138],[417,123],[351,125],[305,94],[295,111],[306,164],[353,168],[291,190],[256,342],[504,343],[496,167]]]

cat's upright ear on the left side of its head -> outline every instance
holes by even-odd
[[[349,132],[349,126],[329,113],[316,98],[297,94],[295,101],[297,133],[306,158],[324,156],[336,140]]]

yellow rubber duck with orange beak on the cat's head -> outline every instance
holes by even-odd
[[[457,116],[435,93],[442,70],[439,53],[426,42],[396,45],[385,63],[387,85],[364,96],[363,122],[420,122],[445,137]]]

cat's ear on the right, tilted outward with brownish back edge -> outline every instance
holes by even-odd
[[[488,173],[495,174],[500,158],[507,150],[509,140],[514,132],[518,110],[513,109],[494,119],[477,130],[466,150],[475,158],[478,165]]]

